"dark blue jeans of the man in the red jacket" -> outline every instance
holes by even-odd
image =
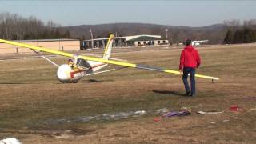
[[[190,74],[190,86],[189,83],[187,82],[187,77],[188,74]],[[195,79],[194,79],[194,74],[195,74],[195,68],[192,67],[184,67],[183,68],[183,75],[182,75],[182,80],[186,89],[186,92],[191,92],[191,94],[195,94]]]

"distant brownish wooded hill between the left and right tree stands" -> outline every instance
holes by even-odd
[[[227,27],[224,24],[216,24],[203,27],[188,26],[165,26],[146,23],[111,23],[101,25],[81,25],[81,26],[62,26],[60,30],[70,30],[72,38],[90,39],[90,29],[93,31],[94,38],[106,38],[110,33],[118,36],[134,34],[154,34],[166,38],[166,28],[168,29],[168,39],[173,43],[184,42],[186,38],[192,40],[209,39],[210,44],[222,43]]]

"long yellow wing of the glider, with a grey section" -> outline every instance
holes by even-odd
[[[24,44],[24,43],[7,41],[7,40],[4,40],[4,39],[0,39],[0,42],[10,44],[10,45],[14,45],[14,46],[25,47],[25,48],[29,48],[29,49],[32,49],[32,50],[39,50],[39,51],[42,51],[42,52],[47,52],[47,53],[51,53],[51,54],[58,54],[58,55],[62,55],[62,56],[65,56],[65,57],[74,58],[74,54],[70,54],[70,53],[66,53],[66,52],[62,52],[62,51],[58,51],[58,50],[50,50],[50,49],[46,49],[44,47],[31,46],[31,45],[27,45],[27,44]],[[160,72],[165,72],[165,73],[170,73],[170,74],[180,74],[179,71],[177,71],[177,70],[168,70],[168,69],[163,69],[161,67],[146,66],[146,65],[141,65],[141,64],[133,64],[133,63],[129,63],[129,62],[118,62],[118,61],[114,61],[114,60],[94,58],[94,57],[88,57],[88,56],[82,56],[82,55],[78,56],[78,58],[82,58],[82,59],[89,60],[89,61],[94,61],[94,62],[109,63],[109,64],[113,64],[113,65],[118,65],[118,66],[134,67],[134,68],[143,69],[143,70],[154,70],[154,71],[160,71]],[[210,77],[210,76],[206,76],[206,75],[202,75],[202,74],[195,74],[195,76],[198,77],[198,78],[208,78],[208,79],[212,79],[212,80],[218,80],[219,79],[219,78],[216,78],[216,77]]]

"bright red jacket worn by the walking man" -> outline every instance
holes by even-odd
[[[201,58],[198,54],[198,50],[195,50],[193,46],[186,46],[182,50],[179,70],[182,70],[184,67],[199,67],[201,63]]]

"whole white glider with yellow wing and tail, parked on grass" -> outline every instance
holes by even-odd
[[[110,58],[113,40],[114,40],[114,34],[110,34],[110,38],[108,39],[106,49],[104,51],[102,58],[70,54],[70,53],[66,53],[63,51],[50,50],[50,49],[47,49],[44,47],[31,46],[31,45],[27,45],[24,43],[7,41],[4,39],[0,39],[0,42],[33,50],[36,54],[38,54],[42,58],[45,58],[48,62],[52,63],[54,66],[58,67],[57,78],[60,82],[63,82],[63,83],[64,82],[78,82],[78,80],[80,80],[84,76],[88,76],[91,74],[101,74],[104,72],[109,72],[109,71],[115,70],[115,69],[111,69],[111,70],[105,70],[105,71],[98,71],[98,70],[101,70],[103,67],[106,67],[108,64],[113,64],[113,65],[117,65],[117,66],[125,66],[125,67],[133,67],[133,68],[138,68],[138,69],[143,69],[143,70],[154,70],[154,71],[165,72],[165,73],[170,73],[170,74],[180,74],[179,71],[177,71],[177,70],[168,70],[168,69],[163,69],[161,67],[146,66],[146,65],[134,64],[134,63],[130,63],[130,62],[121,62],[114,58]],[[61,66],[58,66],[56,63],[50,61],[50,59],[42,56],[39,53],[40,51],[68,57],[68,58],[70,58],[69,64],[63,64]],[[211,80],[218,80],[218,78],[210,77],[210,76],[206,76],[206,75],[202,75],[202,74],[196,74],[195,77],[208,78]]]

